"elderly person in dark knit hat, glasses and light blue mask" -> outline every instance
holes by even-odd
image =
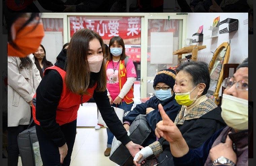
[[[162,120],[158,111],[158,104],[162,104],[167,115],[173,120],[181,108],[181,106],[176,102],[175,94],[173,92],[175,78],[176,72],[172,69],[164,69],[157,72],[153,83],[155,96],[151,97],[145,103],[138,104],[132,111],[123,117],[123,126],[128,130],[130,124],[132,124],[139,114],[146,114],[146,119],[151,128],[151,133],[144,142],[144,146],[148,146],[157,140],[157,137],[155,136],[155,127],[156,123]]]

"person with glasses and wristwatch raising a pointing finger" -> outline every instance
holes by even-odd
[[[170,143],[175,166],[196,165],[248,165],[248,58],[237,67],[231,78],[223,82],[221,116],[227,126],[216,131],[202,146],[189,148],[175,123],[159,105],[162,121],[157,123],[155,134]],[[252,118],[252,116],[250,116]],[[252,121],[250,121],[252,122]],[[138,164],[137,164],[138,165]]]

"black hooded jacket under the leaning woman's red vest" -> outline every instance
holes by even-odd
[[[66,70],[66,49],[62,50],[54,64],[63,70]],[[96,74],[96,73],[95,73]],[[91,79],[95,77],[91,73]],[[60,101],[63,88],[63,80],[56,70],[49,70],[45,73],[42,81],[36,90],[36,119],[40,122],[44,133],[49,139],[59,147],[66,142],[60,125],[56,123],[56,110]],[[103,120],[109,129],[116,136],[117,140],[126,145],[131,141],[124,129],[121,121],[118,119],[114,109],[109,103],[107,90],[105,92],[94,91],[93,98],[99,108]]]

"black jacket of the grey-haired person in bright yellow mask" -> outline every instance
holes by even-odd
[[[188,147],[191,149],[203,145],[206,140],[224,126],[226,126],[226,123],[221,117],[220,107],[213,109],[198,119],[185,120],[182,125],[177,125]],[[158,157],[158,162],[160,163],[164,160],[159,166],[174,166],[169,142],[163,141],[163,138],[158,141],[162,144],[163,148],[163,152]]]

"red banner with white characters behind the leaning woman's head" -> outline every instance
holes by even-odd
[[[103,40],[114,36],[122,39],[141,37],[141,17],[70,16],[70,37],[77,30],[87,28],[97,32]]]

